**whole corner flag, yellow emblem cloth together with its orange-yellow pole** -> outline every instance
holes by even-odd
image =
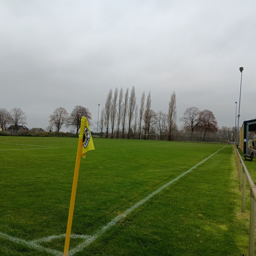
[[[86,117],[82,116],[79,140],[78,140],[78,147],[77,147],[77,153],[76,153],[76,166],[75,166],[73,186],[72,186],[71,199],[70,199],[70,209],[69,209],[68,220],[67,220],[67,233],[66,233],[65,246],[64,246],[64,256],[68,256],[81,156],[83,158],[85,158],[85,153],[87,151],[93,150],[93,149],[95,149],[95,148],[93,145],[93,138],[90,134],[90,128],[88,125],[88,121],[87,121]]]

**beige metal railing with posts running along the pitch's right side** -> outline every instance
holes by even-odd
[[[235,155],[236,155],[236,166],[239,177],[239,190],[242,190],[242,210],[245,212],[245,198],[246,198],[246,180],[248,180],[250,186],[250,225],[249,225],[249,252],[248,256],[254,256],[254,244],[255,244],[255,216],[256,216],[256,186],[253,183],[253,180],[250,176],[250,173],[247,170],[247,167],[244,164],[244,161],[239,154],[236,146]],[[243,187],[242,187],[243,186]]]

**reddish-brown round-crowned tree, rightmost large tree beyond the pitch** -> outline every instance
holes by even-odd
[[[218,122],[212,111],[208,109],[205,109],[200,112],[198,122],[199,128],[201,128],[204,131],[203,141],[205,141],[207,131],[218,131]]]

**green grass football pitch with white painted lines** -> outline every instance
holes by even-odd
[[[93,142],[81,159],[69,255],[247,254],[232,146]],[[0,137],[0,255],[63,255],[77,143]]]

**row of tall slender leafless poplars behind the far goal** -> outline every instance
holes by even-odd
[[[101,134],[105,127],[106,138],[109,136],[113,138],[114,127],[116,127],[117,139],[121,136],[122,139],[124,139],[126,129],[128,130],[127,138],[130,139],[132,130],[134,131],[134,134],[135,131],[137,131],[138,134],[149,134],[150,128],[154,125],[157,132],[160,134],[160,139],[162,137],[162,133],[166,131],[166,128],[168,128],[169,140],[171,140],[172,130],[177,128],[175,91],[171,95],[167,115],[162,111],[156,113],[151,109],[150,92],[146,99],[145,92],[143,92],[140,99],[140,109],[138,109],[136,102],[137,97],[134,86],[131,89],[130,96],[129,88],[127,88],[125,93],[122,88],[119,91],[116,88],[114,92],[110,89],[105,102],[105,108],[102,109],[98,124]]]

